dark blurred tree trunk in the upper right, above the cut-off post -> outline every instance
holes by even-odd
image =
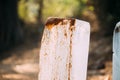
[[[95,7],[102,33],[112,35],[115,24],[120,20],[120,0],[89,0],[89,2]]]

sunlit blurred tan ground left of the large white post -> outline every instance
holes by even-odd
[[[27,42],[3,54],[0,61],[0,80],[37,80],[39,43]]]

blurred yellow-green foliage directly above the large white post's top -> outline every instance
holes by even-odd
[[[43,9],[43,19],[49,16],[71,17],[78,9],[77,0],[45,0]]]

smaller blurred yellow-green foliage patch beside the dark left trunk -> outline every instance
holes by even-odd
[[[18,2],[18,15],[24,22],[37,22],[37,17],[39,16],[38,11],[39,4],[34,0],[20,0]]]

